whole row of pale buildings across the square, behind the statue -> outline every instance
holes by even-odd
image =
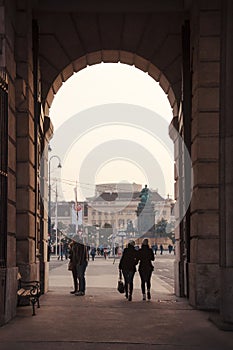
[[[128,232],[137,235],[138,218],[136,210],[140,202],[141,184],[106,183],[96,185],[95,195],[79,203],[79,210],[74,201],[51,203],[52,227],[71,237],[79,233],[89,242],[87,233],[90,227],[112,228],[112,232]],[[164,219],[168,223],[175,221],[172,208],[174,201],[164,199],[157,190],[151,191],[154,205],[155,224]],[[57,215],[57,216],[56,216]],[[86,228],[86,229],[85,229]],[[93,231],[93,230],[90,230]],[[140,233],[139,233],[140,234]]]

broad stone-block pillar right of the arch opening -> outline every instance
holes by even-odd
[[[193,2],[189,302],[219,308],[219,85],[221,1]]]

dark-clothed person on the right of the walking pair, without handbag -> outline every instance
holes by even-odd
[[[141,290],[142,290],[142,298],[146,300],[146,287],[147,287],[147,299],[151,299],[151,275],[154,270],[154,266],[152,261],[155,260],[155,256],[153,250],[149,247],[148,239],[145,238],[142,242],[142,247],[138,251],[138,259],[139,259],[139,275],[141,278]]]

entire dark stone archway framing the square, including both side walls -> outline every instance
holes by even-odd
[[[189,250],[180,253],[187,257],[180,267],[187,267],[189,302],[196,308],[222,309],[223,319],[232,322],[232,232],[226,225],[231,223],[232,192],[232,171],[226,164],[227,152],[232,154],[231,1],[127,0],[111,5],[106,0],[12,0],[1,6],[1,67],[9,78],[4,241],[13,252],[4,280],[14,281],[6,284],[4,295],[11,292],[15,305],[16,270],[37,277],[44,264],[38,254],[38,246],[42,255],[44,249],[38,154],[51,132],[46,115],[53,95],[86,65],[119,61],[148,72],[168,94],[173,125],[187,139],[194,170],[190,220],[184,222],[182,236]],[[176,146],[179,161],[182,153]],[[184,167],[180,170],[184,178]],[[176,182],[176,193],[178,185],[182,181]],[[8,304],[5,320],[15,312]]]

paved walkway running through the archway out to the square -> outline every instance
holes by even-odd
[[[233,332],[219,330],[208,312],[175,297],[156,274],[151,301],[142,301],[138,273],[133,301],[127,301],[116,290],[118,263],[90,260],[86,295],[75,296],[69,293],[73,284],[67,261],[57,262],[36,316],[31,307],[19,307],[17,316],[0,328],[0,349],[232,350]]]

